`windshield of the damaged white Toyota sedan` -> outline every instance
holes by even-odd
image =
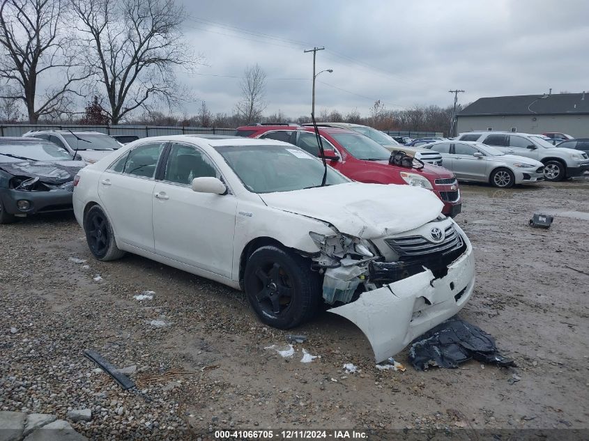
[[[250,192],[290,192],[319,187],[323,163],[295,146],[215,147]],[[328,167],[326,185],[350,180]]]

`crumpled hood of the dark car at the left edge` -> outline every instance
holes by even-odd
[[[0,162],[0,169],[14,176],[39,178],[42,183],[61,185],[74,180],[76,173],[86,166],[84,161],[25,161]]]

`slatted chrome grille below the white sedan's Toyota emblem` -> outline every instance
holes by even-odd
[[[439,243],[430,242],[420,235],[405,238],[388,238],[385,239],[385,242],[399,254],[401,260],[423,257],[428,254],[448,253],[462,246],[462,238],[453,225],[446,227],[444,233],[444,240]]]

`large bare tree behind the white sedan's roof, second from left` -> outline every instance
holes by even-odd
[[[185,17],[174,0],[70,0],[79,17],[86,64],[105,88],[112,124],[130,112],[171,109],[188,98],[175,68],[190,71],[201,61],[187,50],[181,32]]]

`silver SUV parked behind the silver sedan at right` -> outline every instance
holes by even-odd
[[[572,148],[550,144],[540,134],[516,132],[468,132],[461,133],[460,141],[478,141],[494,146],[503,153],[531,157],[544,164],[546,180],[563,180],[581,176],[589,170],[587,153]]]

